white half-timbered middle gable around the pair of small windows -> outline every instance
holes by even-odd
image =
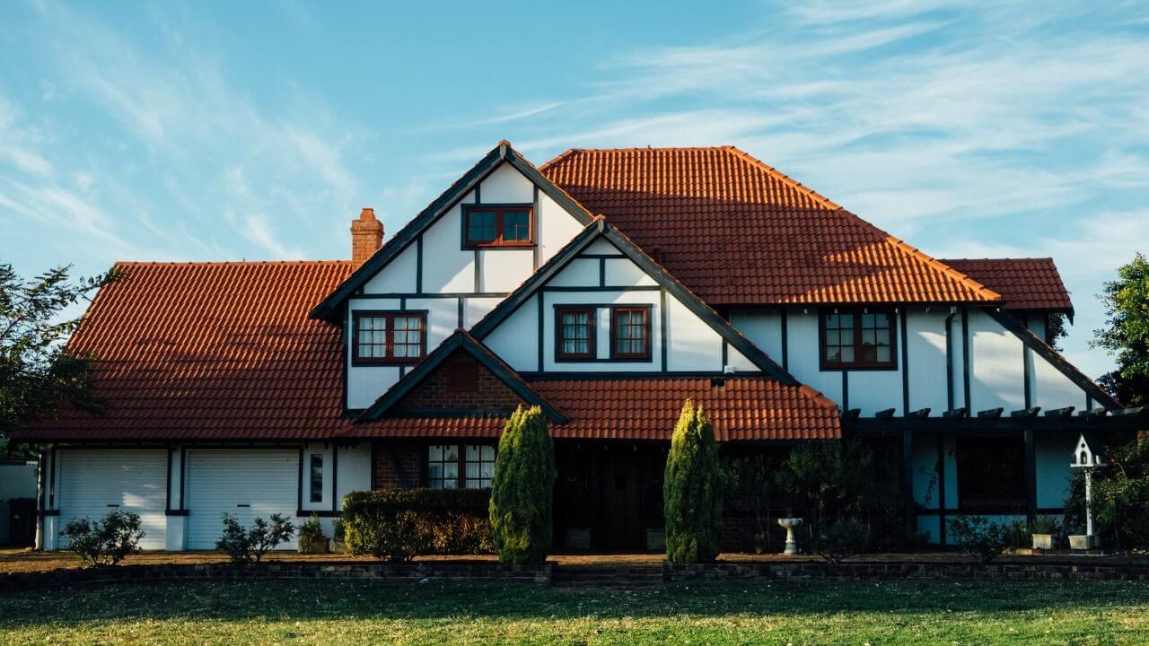
[[[593,312],[594,356],[556,352],[557,309]],[[648,314],[648,353],[619,360],[611,352],[612,312]],[[518,371],[766,372],[793,378],[712,309],[603,221],[588,226],[472,330]]]

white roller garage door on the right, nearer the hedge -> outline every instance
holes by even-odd
[[[271,514],[294,522],[298,483],[298,451],[188,451],[187,548],[215,549],[225,513],[244,526]],[[295,541],[278,548],[294,549]]]

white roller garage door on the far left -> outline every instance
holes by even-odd
[[[62,449],[57,477],[60,529],[72,518],[108,512],[139,514],[144,549],[163,549],[168,520],[168,452],[164,449]],[[64,546],[61,540],[61,546]]]

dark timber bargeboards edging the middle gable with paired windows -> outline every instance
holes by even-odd
[[[581,233],[576,236],[570,243],[566,244],[566,246],[560,249],[558,253],[540,267],[539,270],[531,276],[531,278],[519,285],[517,290],[511,292],[509,297],[507,297],[493,310],[483,317],[481,321],[476,323],[471,329],[471,333],[475,334],[477,339],[481,340],[487,334],[493,332],[500,323],[506,321],[511,314],[522,307],[523,303],[530,300],[535,292],[540,291],[548,280],[554,278],[572,260],[578,257],[579,253],[586,249],[599,237],[607,238],[607,240],[614,244],[615,247],[623,253],[623,255],[638,264],[639,268],[646,271],[648,276],[654,278],[655,282],[664,287],[671,295],[677,298],[694,315],[709,323],[719,336],[726,339],[731,346],[742,353],[742,355],[750,360],[763,372],[772,376],[784,384],[799,385],[797,379],[782,370],[781,366],[774,363],[774,361],[766,356],[764,352],[758,349],[757,346],[751,344],[746,337],[734,330],[734,328],[732,328],[725,318],[719,316],[718,313],[702,302],[699,297],[694,295],[694,292],[691,292],[685,285],[671,277],[665,269],[634,246],[629,238],[619,233],[614,226],[601,218],[584,229]]]

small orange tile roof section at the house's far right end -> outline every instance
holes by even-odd
[[[1051,257],[951,259],[946,264],[1002,295],[1003,309],[1073,312]]]

